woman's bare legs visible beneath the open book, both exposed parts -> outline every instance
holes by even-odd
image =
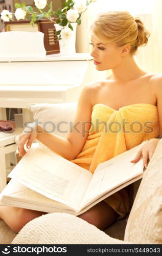
[[[29,221],[44,214],[47,214],[47,212],[0,206],[0,217],[16,233],[18,233]],[[95,225],[99,229],[104,230],[117,221],[119,215],[108,204],[101,201],[78,217]]]

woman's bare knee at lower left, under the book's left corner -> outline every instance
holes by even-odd
[[[18,233],[29,221],[43,214],[47,214],[47,212],[18,207],[0,206],[0,219],[3,219],[16,233]]]

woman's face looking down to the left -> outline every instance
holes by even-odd
[[[94,58],[94,64],[99,71],[113,69],[121,62],[121,48],[112,42],[99,41],[91,35],[92,50],[90,55]]]

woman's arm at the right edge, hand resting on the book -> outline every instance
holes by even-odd
[[[162,134],[162,76],[156,75],[152,80],[152,88],[155,92],[155,96],[157,99],[157,111],[159,118],[159,126],[160,126],[160,134]],[[159,142],[159,138],[150,139],[145,143],[145,145],[141,148],[140,151],[137,152],[135,158],[131,161],[132,163],[136,163],[138,160],[143,158],[143,164],[147,167],[148,160],[154,154],[157,143]]]

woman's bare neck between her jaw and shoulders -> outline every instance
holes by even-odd
[[[127,83],[147,73],[138,68],[133,56],[124,57],[119,65],[112,69],[112,79],[119,83]]]

